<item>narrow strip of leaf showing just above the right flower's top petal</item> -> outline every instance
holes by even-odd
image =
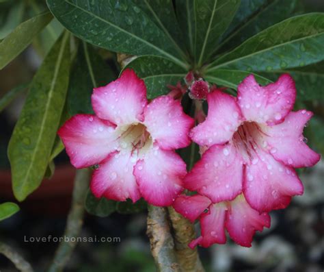
[[[226,86],[228,88],[233,88],[236,90],[237,86],[242,82],[242,80],[251,74],[254,74],[259,84],[266,85],[271,83],[270,79],[267,79],[260,75],[256,75],[255,73],[226,69],[217,69],[210,71],[206,73],[204,79],[208,82],[215,83],[220,86]]]

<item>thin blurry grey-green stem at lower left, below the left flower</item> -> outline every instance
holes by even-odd
[[[72,206],[68,214],[68,220],[64,232],[64,238],[66,238],[68,242],[64,239],[59,243],[59,247],[55,252],[53,262],[49,268],[49,272],[62,271],[68,262],[73,249],[75,249],[75,246],[77,245],[77,236],[81,232],[83,225],[84,199],[87,193],[87,188],[89,187],[90,172],[90,169],[77,170],[72,195]],[[74,238],[73,242],[71,241],[71,238]]]

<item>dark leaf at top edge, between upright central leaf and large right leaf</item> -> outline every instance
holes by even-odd
[[[294,13],[298,1],[241,1],[240,8],[230,28],[232,33],[229,32],[230,35],[226,35],[226,39],[221,42],[217,51],[228,51],[237,47],[247,38],[288,18]]]

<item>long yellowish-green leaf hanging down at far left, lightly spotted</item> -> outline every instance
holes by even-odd
[[[70,47],[66,32],[33,77],[10,139],[12,186],[19,201],[36,190],[44,177],[66,99],[69,71]]]

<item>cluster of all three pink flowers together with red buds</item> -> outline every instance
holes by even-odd
[[[76,168],[98,165],[90,185],[96,197],[173,204],[189,220],[200,220],[201,236],[191,247],[225,243],[225,230],[248,247],[256,230],[269,227],[269,211],[303,193],[294,169],[319,161],[302,135],[312,113],[292,111],[296,90],[289,75],[267,86],[249,75],[237,97],[187,77],[191,96],[208,103],[196,127],[175,99],[182,86],[149,102],[143,80],[126,69],[94,89],[95,114],[73,116],[59,136]],[[191,140],[202,158],[187,174],[175,149]],[[184,188],[196,195],[180,195]]]

